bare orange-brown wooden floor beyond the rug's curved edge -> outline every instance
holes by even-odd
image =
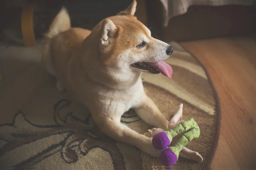
[[[212,170],[256,170],[256,40],[182,42],[205,66],[221,103]]]

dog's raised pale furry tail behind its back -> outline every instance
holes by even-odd
[[[67,31],[71,28],[70,16],[65,7],[62,7],[56,17],[53,19],[49,30],[45,34],[46,37],[52,38],[55,35]]]

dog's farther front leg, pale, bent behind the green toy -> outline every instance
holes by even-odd
[[[166,120],[161,111],[148,96],[145,96],[143,102],[134,107],[134,110],[137,115],[149,125],[165,130],[168,129],[169,121]]]

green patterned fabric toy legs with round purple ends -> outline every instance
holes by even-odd
[[[182,134],[180,139],[174,146],[169,147],[172,139],[178,134]],[[177,161],[183,147],[193,139],[198,139],[199,136],[200,128],[195,120],[190,118],[181,122],[171,130],[155,134],[152,139],[152,144],[158,150],[164,149],[159,156],[160,162],[166,167],[171,167]]]

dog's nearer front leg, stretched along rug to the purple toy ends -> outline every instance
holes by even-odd
[[[110,114],[108,114],[110,115]],[[138,147],[141,151],[148,153],[153,157],[158,157],[161,150],[156,150],[152,145],[152,138],[144,136],[143,134],[137,133],[129,127],[121,124],[120,118],[106,118],[101,116],[95,116],[92,113],[93,120],[99,126],[102,133],[110,136],[111,138],[125,142],[127,144]]]

